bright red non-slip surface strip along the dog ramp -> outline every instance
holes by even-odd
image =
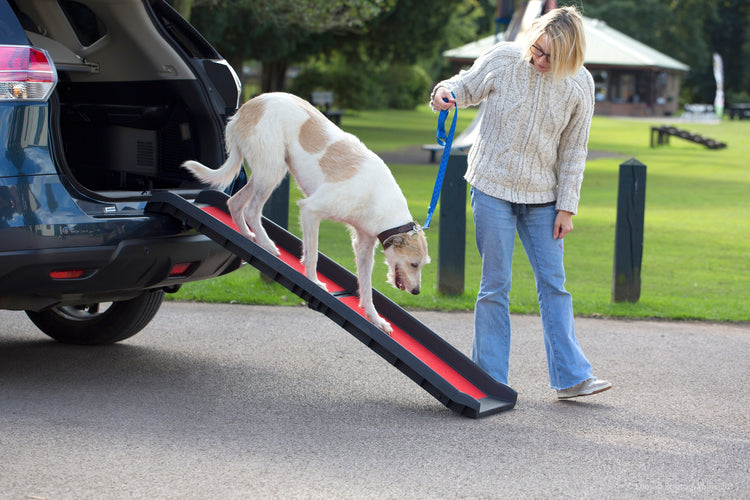
[[[224,225],[234,229],[235,231],[239,231],[229,214],[227,214],[223,210],[212,206],[201,207],[201,209]],[[285,264],[287,264],[289,267],[296,270],[300,274],[305,274],[304,265],[296,256],[292,255],[284,248],[277,248],[281,253],[280,258]],[[344,288],[322,273],[318,273],[318,280],[325,283],[328,292],[336,296],[347,307],[356,311],[362,317],[365,317],[364,310],[359,307],[358,297],[349,294],[338,294],[338,292],[343,292]],[[390,319],[387,316],[384,317],[390,322]],[[443,379],[445,379],[457,390],[477,400],[487,397],[487,394],[482,392],[473,383],[468,381],[464,376],[458,373],[445,361],[440,359],[436,354],[434,354],[432,351],[427,349],[424,345],[422,345],[420,342],[418,342],[416,339],[402,330],[398,325],[391,323],[391,326],[393,327],[393,332],[391,333],[391,338],[393,338],[393,340],[398,342],[404,349],[409,351],[412,355],[429,366],[433,371],[443,377]]]

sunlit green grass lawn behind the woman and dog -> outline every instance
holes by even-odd
[[[473,116],[471,110],[459,111],[459,132]],[[350,112],[343,119],[343,127],[370,149],[382,152],[434,142],[436,121],[436,115],[424,107],[417,111]],[[589,149],[619,156],[587,163],[575,229],[565,238],[567,288],[573,294],[576,314],[750,321],[750,121],[674,124],[726,142],[728,147],[722,150],[709,150],[674,137],[669,145],[650,148],[653,124],[662,121],[594,118]],[[647,166],[641,298],[637,303],[613,303],[617,180],[619,165],[630,158]],[[412,215],[424,222],[437,166],[390,167]],[[299,196],[293,187],[290,230],[298,236],[295,200]],[[412,296],[385,283],[386,266],[380,250],[373,284],[407,308],[470,310],[481,272],[471,210],[467,207],[465,291],[459,296],[437,292],[439,211],[440,205],[427,231],[433,263],[423,271],[422,293]],[[320,248],[341,265],[355,269],[349,235],[341,224],[324,221]],[[248,304],[301,303],[285,288],[261,279],[249,266],[227,276],[185,285],[172,297]],[[511,310],[538,311],[533,274],[520,242],[515,253]]]

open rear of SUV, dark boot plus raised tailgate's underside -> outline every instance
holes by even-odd
[[[58,167],[89,196],[196,189],[181,163],[223,159],[222,115],[236,106],[231,73],[154,3],[27,0],[14,7],[31,44],[57,69],[50,130]],[[206,97],[206,75],[219,80],[218,101]]]

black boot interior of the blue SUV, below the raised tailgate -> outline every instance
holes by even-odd
[[[178,85],[158,82],[58,86],[59,123],[70,173],[87,189],[151,191],[192,181],[180,164],[198,157],[190,111]],[[162,95],[167,103],[139,96]]]

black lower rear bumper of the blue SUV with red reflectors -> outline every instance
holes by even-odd
[[[169,289],[241,265],[239,258],[199,234],[0,252],[0,262],[0,309],[14,310],[128,300],[145,289]],[[82,273],[65,277],[71,270]]]

